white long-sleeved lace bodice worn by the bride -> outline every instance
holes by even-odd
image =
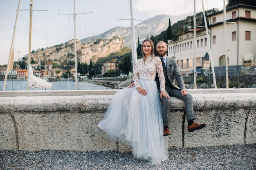
[[[135,87],[140,87],[138,81],[139,78],[154,81],[157,73],[160,81],[160,89],[161,92],[163,92],[165,89],[165,78],[160,58],[154,57],[152,60],[151,56],[149,56],[146,59],[145,64],[143,58],[138,59],[135,65],[135,72],[133,76]]]

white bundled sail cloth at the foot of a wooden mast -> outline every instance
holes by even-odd
[[[28,74],[29,74],[29,80],[27,83],[28,86],[30,86],[30,87],[36,86],[38,88],[43,88],[43,89],[51,89],[52,88],[52,83],[48,83],[48,82],[44,81],[43,79],[34,76],[31,65],[28,65]]]

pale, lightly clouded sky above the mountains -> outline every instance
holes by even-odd
[[[146,20],[166,14],[193,12],[193,0],[132,0],[134,19]],[[223,0],[203,0],[204,9],[223,9]],[[30,0],[21,0],[14,39],[14,61],[28,54]],[[196,11],[202,0],[195,0]],[[227,4],[227,1],[226,1]],[[0,65],[7,64],[18,8],[18,0],[0,0]],[[75,0],[76,38],[102,34],[114,27],[130,27],[130,0]],[[74,0],[33,0],[31,50],[50,47],[74,39]],[[39,11],[47,10],[47,11]],[[80,14],[79,14],[80,13]],[[86,14],[81,14],[86,13]],[[63,15],[65,14],[65,15]],[[139,21],[134,21],[139,24]],[[166,23],[168,24],[168,23]]]

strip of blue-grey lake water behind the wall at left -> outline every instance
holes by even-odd
[[[50,82],[52,83],[52,90],[75,90],[75,82],[74,81],[57,81]],[[3,90],[4,81],[0,81],[0,91]],[[93,83],[87,83],[84,81],[78,82],[79,90],[100,90],[100,89],[111,89],[110,87],[105,87],[102,85],[95,85]],[[27,81],[7,81],[5,90],[27,90]],[[42,88],[30,87],[30,90],[44,90]]]

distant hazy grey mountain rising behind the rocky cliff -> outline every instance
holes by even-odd
[[[186,16],[191,16],[193,13],[187,13]],[[169,16],[169,15],[157,15],[151,18],[148,18],[145,20],[146,22],[141,22],[138,25],[135,26],[135,35],[136,39],[139,39],[143,41],[146,39],[146,37],[150,37],[150,35],[156,36],[160,34],[162,31],[166,30],[168,27],[169,19],[171,20],[171,23],[176,23],[179,20],[184,19],[185,15],[180,16]],[[103,34],[100,34],[98,36],[92,36],[88,38],[81,39],[81,43],[91,42],[92,40],[95,40],[97,38],[102,39],[110,39],[113,36],[120,36],[124,38],[125,40],[125,46],[131,47],[131,29],[130,27],[115,27],[112,28]]]

